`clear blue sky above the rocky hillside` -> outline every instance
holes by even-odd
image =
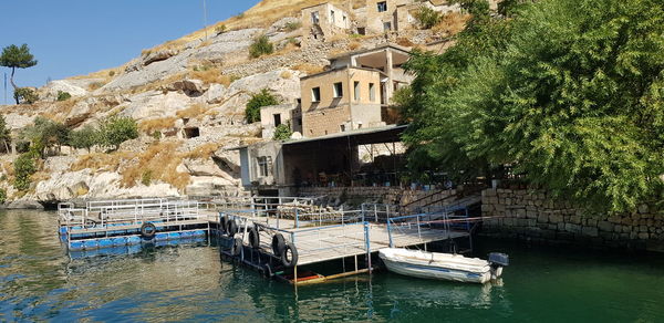
[[[208,24],[259,0],[206,0]],[[203,0],[1,0],[0,46],[27,43],[39,61],[18,70],[19,86],[41,86],[114,67],[144,49],[203,29]],[[0,67],[2,77],[9,69]],[[8,85],[11,87],[11,85]],[[8,91],[12,93],[11,88]],[[0,103],[3,97],[0,95]]]

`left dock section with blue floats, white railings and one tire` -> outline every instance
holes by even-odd
[[[60,237],[70,251],[87,251],[142,243],[195,240],[209,233],[208,216],[199,202],[132,199],[72,202],[58,206]],[[95,252],[92,252],[95,251]]]

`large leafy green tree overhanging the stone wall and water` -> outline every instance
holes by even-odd
[[[501,41],[487,43],[496,31]],[[654,0],[541,1],[476,21],[447,53],[408,63],[409,159],[488,176],[512,165],[533,187],[600,211],[661,200],[662,34]]]

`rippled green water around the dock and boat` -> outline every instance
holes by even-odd
[[[663,257],[506,251],[502,285],[386,272],[292,286],[221,262],[216,247],[70,259],[56,218],[0,212],[0,321],[664,322]]]

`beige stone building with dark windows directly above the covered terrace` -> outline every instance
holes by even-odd
[[[302,135],[384,126],[382,111],[412,76],[408,51],[393,44],[330,58],[330,70],[302,77]]]

